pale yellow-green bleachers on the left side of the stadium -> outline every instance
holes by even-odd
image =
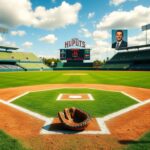
[[[0,71],[52,70],[40,58],[30,52],[12,52],[17,48],[0,46]]]

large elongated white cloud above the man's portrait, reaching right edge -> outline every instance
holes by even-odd
[[[150,7],[136,6],[131,11],[113,11],[97,24],[99,29],[139,28],[150,21]]]

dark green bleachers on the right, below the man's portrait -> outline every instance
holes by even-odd
[[[150,70],[150,49],[118,52],[102,65],[103,70]]]

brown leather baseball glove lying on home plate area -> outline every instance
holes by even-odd
[[[65,108],[64,112],[58,112],[58,117],[65,128],[75,131],[84,130],[90,123],[90,116],[75,107]]]

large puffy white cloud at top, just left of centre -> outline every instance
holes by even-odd
[[[69,24],[76,24],[80,9],[80,3],[70,5],[66,2],[62,2],[61,6],[49,10],[46,10],[45,7],[37,7],[34,13],[37,20],[34,22],[34,26],[55,29]]]

